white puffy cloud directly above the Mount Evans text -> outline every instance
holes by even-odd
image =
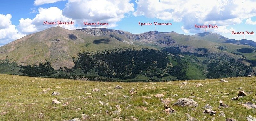
[[[114,27],[126,13],[134,11],[133,6],[130,0],[69,0],[63,15],[75,19],[80,25],[99,21],[108,23],[106,27]]]

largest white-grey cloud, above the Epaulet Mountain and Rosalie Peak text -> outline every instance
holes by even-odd
[[[218,30],[226,33],[233,30],[228,28],[229,25],[239,24],[244,19],[256,16],[256,1],[250,0],[137,0],[136,3],[134,16],[182,22],[184,26],[181,30],[185,33],[202,32],[202,29],[195,28],[195,24],[217,24]],[[249,22],[248,20],[247,23]]]

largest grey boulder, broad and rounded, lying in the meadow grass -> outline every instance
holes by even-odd
[[[178,106],[194,106],[194,107],[198,106],[196,101],[194,101],[193,99],[187,99],[187,98],[180,98],[173,105],[178,105]]]

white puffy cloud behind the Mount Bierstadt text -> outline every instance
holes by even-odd
[[[21,18],[19,23],[19,30],[21,33],[30,34],[38,31],[42,31],[49,27],[60,26],[66,29],[76,29],[75,25],[47,25],[44,22],[74,22],[73,19],[62,15],[62,10],[57,7],[51,7],[48,9],[39,8],[39,14],[35,18]],[[75,24],[75,22],[74,22]]]

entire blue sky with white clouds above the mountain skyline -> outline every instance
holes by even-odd
[[[174,31],[185,35],[205,32],[194,25],[215,25],[207,32],[240,40],[244,35],[232,31],[255,32],[256,1],[252,0],[12,0],[0,4],[0,46],[25,35],[58,25],[43,25],[43,21],[73,21],[75,25],[59,25],[66,29],[94,28],[83,22],[108,23],[97,28],[109,28],[143,33],[155,30],[154,25],[138,22],[172,23],[158,25],[159,32]],[[256,33],[255,33],[256,34]],[[245,39],[256,41],[255,35]]]

